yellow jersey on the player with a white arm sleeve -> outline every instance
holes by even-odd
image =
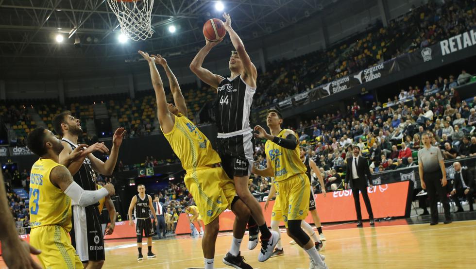
[[[61,166],[51,159],[39,159],[30,174],[30,220],[32,229],[59,225],[71,230],[71,199],[50,181],[51,170]]]

